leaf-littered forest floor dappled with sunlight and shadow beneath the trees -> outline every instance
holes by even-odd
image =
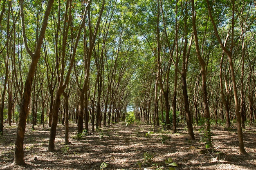
[[[65,126],[58,125],[55,151],[47,152],[50,128],[37,125],[32,130],[28,124],[24,139],[26,165],[17,166],[12,164],[16,124],[5,124],[4,135],[0,137],[0,170],[99,170],[104,163],[105,170],[256,170],[255,124],[243,130],[248,155],[238,154],[235,128],[211,126],[213,147],[209,150],[200,141],[200,128],[194,126],[196,141],[188,140],[185,128],[180,127],[173,134],[152,125],[126,127],[124,123],[79,138],[76,124],[72,124],[70,144],[65,145]],[[171,163],[177,167],[166,166]]]

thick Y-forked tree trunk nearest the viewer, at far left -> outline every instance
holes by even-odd
[[[24,86],[24,92],[22,96],[22,101],[20,104],[20,111],[19,111],[19,121],[17,126],[17,133],[16,133],[16,141],[15,141],[15,149],[14,149],[14,164],[22,165],[25,164],[24,161],[24,150],[23,150],[23,144],[24,144],[24,134],[25,134],[25,128],[26,128],[26,119],[29,111],[29,102],[30,102],[30,96],[31,96],[31,87],[32,82],[34,78],[34,74],[36,71],[36,66],[38,63],[38,60],[40,58],[40,51],[41,46],[43,43],[43,38],[45,37],[45,30],[48,24],[48,17],[49,13],[52,8],[54,0],[49,0],[47,3],[47,7],[45,9],[45,15],[43,18],[42,27],[40,30],[40,34],[36,41],[36,48],[34,52],[32,52],[27,44],[27,36],[26,36],[26,30],[25,30],[25,15],[24,15],[24,9],[23,9],[23,0],[20,0],[20,17],[22,22],[22,35],[23,35],[23,42],[25,45],[25,49],[27,53],[31,56],[31,63],[29,66],[29,71],[27,73],[27,78]]]

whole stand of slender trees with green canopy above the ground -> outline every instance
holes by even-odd
[[[246,153],[255,1],[2,0],[0,8],[0,132],[4,119],[18,120],[14,163],[25,163],[29,120],[51,127],[51,152],[59,121],[68,143],[70,119],[81,133],[125,119],[127,107],[173,132],[182,119],[191,140],[193,120],[204,120],[209,146],[211,119],[236,120]]]

